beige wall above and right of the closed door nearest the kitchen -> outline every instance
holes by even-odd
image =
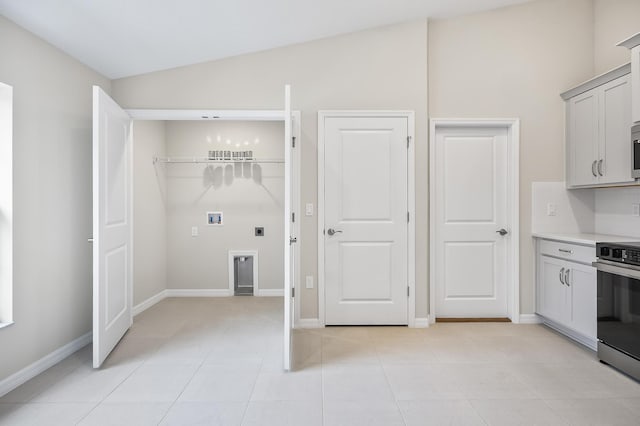
[[[518,117],[520,307],[534,311],[531,182],[564,180],[559,93],[593,76],[593,8],[542,0],[429,24],[431,117]]]

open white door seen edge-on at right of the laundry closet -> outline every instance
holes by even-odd
[[[292,329],[293,329],[293,289],[295,288],[293,272],[294,244],[297,242],[293,235],[292,201],[293,191],[293,155],[292,126],[291,126],[291,88],[284,88],[284,369],[291,370],[292,365]]]

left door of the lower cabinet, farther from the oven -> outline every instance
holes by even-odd
[[[560,281],[564,277],[566,262],[553,257],[538,256],[537,312],[549,319],[564,323],[567,318],[567,287]]]

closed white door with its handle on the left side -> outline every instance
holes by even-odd
[[[407,324],[406,117],[325,117],[325,323]]]

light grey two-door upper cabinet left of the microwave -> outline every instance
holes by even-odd
[[[567,108],[567,187],[635,182],[631,176],[630,70],[626,64],[561,95]]]

